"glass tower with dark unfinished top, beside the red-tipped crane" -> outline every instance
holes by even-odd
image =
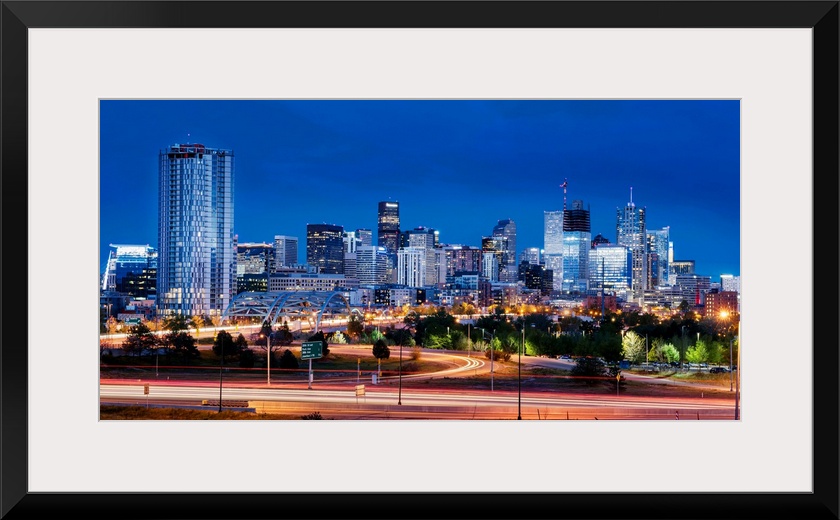
[[[563,211],[563,291],[585,294],[589,288],[589,250],[592,233],[589,209],[573,200]]]

